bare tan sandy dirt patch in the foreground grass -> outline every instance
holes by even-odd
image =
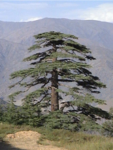
[[[52,146],[48,141],[48,145],[40,145],[37,141],[40,134],[35,131],[20,131],[15,134],[8,134],[5,138],[7,144],[0,143],[0,150],[65,150]]]

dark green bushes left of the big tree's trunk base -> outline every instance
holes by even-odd
[[[45,116],[41,115],[41,110],[37,105],[25,101],[23,106],[17,107],[14,105],[14,101],[11,100],[4,110],[1,107],[0,121],[15,125],[42,126]]]

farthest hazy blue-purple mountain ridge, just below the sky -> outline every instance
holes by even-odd
[[[25,23],[0,22],[0,35],[1,38],[16,43],[28,44],[30,42],[32,44],[34,34],[53,30],[90,39],[112,49],[112,27],[112,23],[100,21],[45,18]]]

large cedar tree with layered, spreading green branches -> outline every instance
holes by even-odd
[[[91,56],[91,51],[77,43],[78,38],[74,35],[51,31],[34,37],[36,44],[29,51],[37,51],[24,59],[31,61],[32,67],[11,74],[11,79],[20,77],[21,80],[10,87],[19,84],[28,91],[38,85],[34,92],[23,98],[24,104],[29,102],[48,110],[51,106],[55,118],[60,118],[60,127],[67,124],[67,119],[64,119],[67,117],[74,126],[78,122],[81,126],[89,120],[95,122],[101,117],[108,118],[107,112],[92,105],[93,102],[104,104],[103,100],[95,99],[91,93],[99,93],[98,89],[105,88],[105,85],[89,71],[87,60],[95,59]],[[29,81],[26,80],[27,77],[30,77]],[[12,96],[25,91],[16,92]],[[64,100],[66,98],[67,101]],[[58,115],[58,110],[63,112],[63,116]]]

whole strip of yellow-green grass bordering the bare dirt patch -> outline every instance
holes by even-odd
[[[64,147],[67,150],[113,150],[113,138],[88,135],[78,132],[70,132],[67,130],[47,130],[44,128],[33,128],[22,125],[15,126],[6,123],[0,123],[0,138],[4,138],[6,134],[18,131],[33,130],[42,134],[38,143],[48,145],[50,143]]]

